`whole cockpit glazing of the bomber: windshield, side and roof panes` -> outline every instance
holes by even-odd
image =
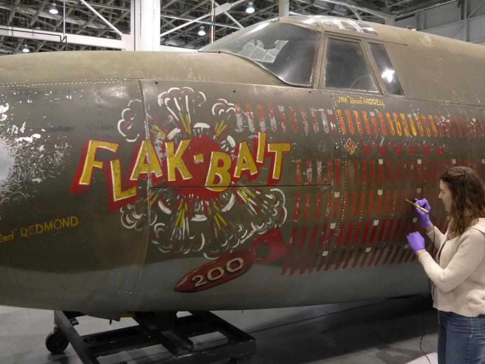
[[[281,81],[295,86],[313,86],[314,63],[322,31],[328,31],[321,80],[324,87],[379,93],[380,88],[362,42],[339,37],[339,32],[365,34],[370,53],[381,73],[382,83],[393,95],[404,91],[379,37],[368,23],[327,16],[296,16],[291,20],[269,20],[227,35],[203,48],[203,52],[224,52],[247,59]],[[335,34],[337,33],[337,34]]]

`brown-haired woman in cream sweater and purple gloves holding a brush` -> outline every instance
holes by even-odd
[[[438,310],[438,364],[479,364],[485,347],[485,190],[469,167],[453,167],[441,176],[439,199],[451,215],[443,235],[429,214],[416,208],[421,226],[434,239],[436,262],[419,232],[407,236],[426,274],[435,284]],[[416,203],[430,210],[426,199]]]

